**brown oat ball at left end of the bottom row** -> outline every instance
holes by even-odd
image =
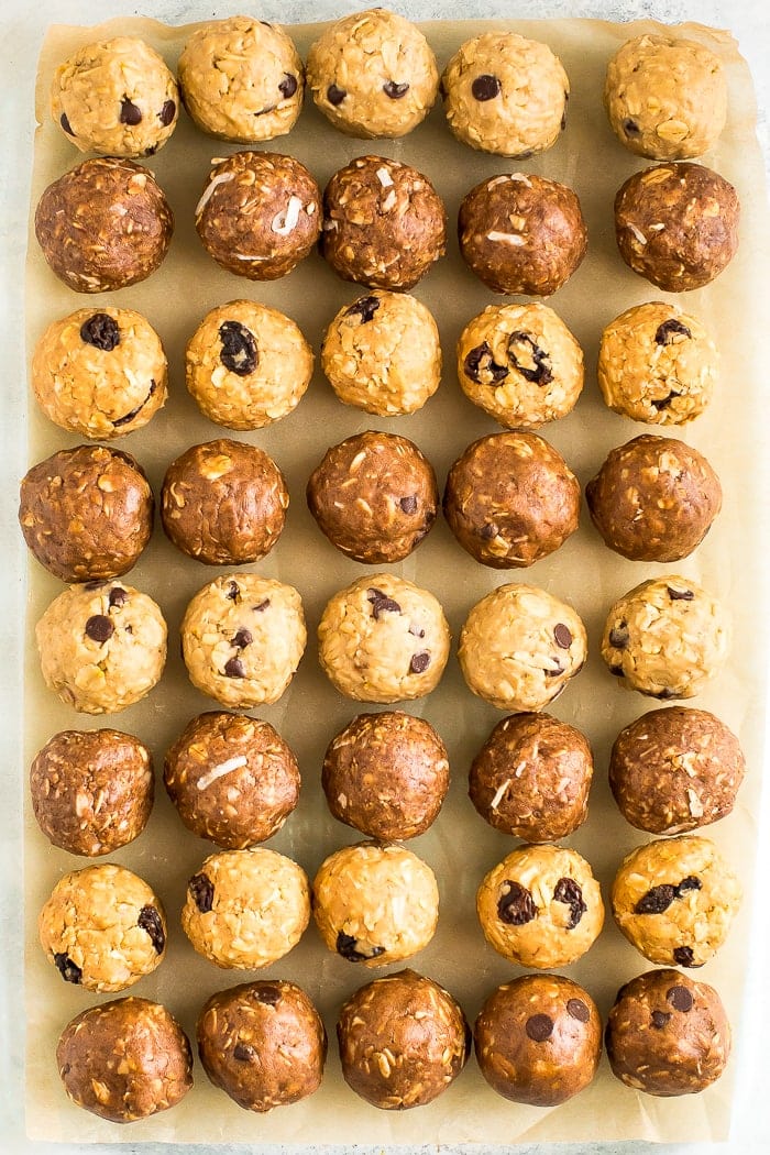
[[[187,1035],[159,1003],[134,997],[70,1020],[59,1037],[57,1065],[73,1103],[111,1123],[166,1111],[193,1086]]]

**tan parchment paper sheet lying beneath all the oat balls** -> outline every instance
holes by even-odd
[[[323,186],[331,173],[352,156],[366,151],[405,159],[426,172],[444,198],[451,223],[464,193],[478,180],[511,167],[538,172],[571,185],[578,192],[589,226],[589,255],[578,273],[550,304],[563,316],[586,356],[586,386],[574,413],[541,432],[566,456],[582,483],[596,472],[607,450],[643,432],[643,426],[610,413],[596,386],[595,364],[604,325],[623,308],[668,296],[628,271],[614,245],[612,201],[630,172],[648,162],[627,154],[606,125],[600,103],[604,68],[622,40],[656,30],[651,22],[612,25],[596,21],[504,21],[434,23],[424,25],[443,65],[469,36],[491,27],[511,27],[523,35],[547,40],[560,54],[571,82],[569,124],[556,147],[543,157],[511,163],[477,154],[459,146],[448,133],[440,109],[425,125],[401,141],[361,142],[336,133],[306,105],[293,132],[266,146],[298,156]],[[141,35],[173,67],[190,28],[165,28],[152,21],[120,18],[97,29],[55,27],[42,50],[37,96],[40,128],[36,139],[32,209],[43,188],[81,158],[50,120],[47,90],[55,65],[79,44],[120,33]],[[302,54],[319,27],[292,28]],[[749,949],[749,909],[762,766],[765,668],[763,644],[767,627],[755,608],[762,604],[757,537],[761,500],[765,491],[762,432],[758,408],[762,381],[760,344],[764,266],[768,240],[763,204],[763,170],[754,137],[755,105],[750,77],[726,33],[682,25],[681,35],[710,44],[723,58],[730,81],[730,117],[717,147],[704,158],[737,185],[742,202],[742,244],[731,267],[712,285],[682,298],[686,308],[712,329],[723,356],[717,396],[696,423],[672,430],[704,452],[719,472],[725,506],[712,531],[695,557],[675,567],[626,561],[606,550],[583,514],[581,529],[551,558],[529,571],[510,575],[478,566],[454,542],[443,522],[411,558],[394,567],[432,589],[444,605],[455,638],[470,606],[495,584],[508,580],[531,581],[571,602],[585,620],[591,658],[584,671],[553,706],[553,713],[581,728],[590,738],[597,761],[590,817],[568,844],[591,862],[605,896],[622,855],[645,841],[616,811],[606,784],[608,748],[620,728],[655,705],[623,692],[604,670],[598,640],[612,601],[638,581],[664,572],[680,572],[703,581],[724,597],[733,616],[732,658],[724,672],[693,705],[713,709],[740,735],[749,774],[734,813],[703,833],[718,843],[741,874],[746,889],[743,908],[728,942],[700,976],[716,985],[734,1023],[737,1049],[742,977]],[[196,441],[223,435],[196,410],[184,387],[184,346],[203,313],[236,297],[253,297],[292,316],[314,348],[337,308],[358,296],[359,289],[338,281],[313,254],[283,281],[252,283],[218,268],[204,253],[194,230],[193,210],[211,157],[234,151],[205,137],[182,116],[171,142],[150,167],[166,191],[177,217],[170,255],[143,284],[115,295],[84,297],[66,289],[45,264],[31,234],[28,259],[28,345],[54,318],[92,303],[114,301],[144,313],[158,329],[171,365],[171,398],[147,426],[115,442],[145,467],[159,490],[169,462]],[[343,407],[316,370],[308,394],[298,410],[271,429],[236,434],[266,448],[284,470],[290,493],[286,530],[263,562],[252,568],[287,581],[300,590],[308,617],[311,642],[289,693],[260,715],[272,722],[290,743],[302,770],[302,795],[296,813],[269,843],[296,858],[312,877],[322,858],[343,843],[357,841],[356,832],[331,819],[320,788],[320,768],[328,740],[364,707],[341,698],[319,666],[314,629],[327,598],[361,573],[326,542],[305,507],[306,479],[328,445],[360,430],[383,429],[412,438],[431,459],[443,482],[451,461],[473,438],[498,426],[463,397],[454,372],[454,345],[466,323],[493,297],[463,266],[450,237],[448,256],[414,290],[432,310],[444,350],[442,386],[424,410],[411,417],[379,419]],[[496,298],[500,299],[500,298]],[[47,423],[30,403],[30,460],[77,444]],[[663,431],[666,432],[666,431]],[[151,594],[170,626],[170,661],[160,685],[130,709],[105,718],[76,715],[59,703],[42,684],[32,649],[32,625],[61,586],[30,561],[27,660],[27,762],[52,733],[63,728],[97,729],[115,725],[136,733],[156,754],[163,752],[195,714],[214,708],[188,683],[173,642],[188,598],[211,576],[211,571],[179,554],[156,529],[154,539],[127,580]],[[366,707],[367,709],[369,707]],[[492,829],[476,814],[466,797],[471,758],[502,716],[473,698],[465,688],[454,657],[440,687],[421,702],[404,707],[436,725],[449,748],[453,784],[443,811],[431,832],[410,847],[435,870],[441,891],[441,916],[435,939],[412,960],[417,969],[443,983],[462,1003],[472,1022],[487,992],[521,969],[506,963],[488,947],[474,915],[476,887],[494,863],[513,848],[513,840]],[[330,1035],[327,1074],[309,1100],[255,1117],[241,1111],[215,1090],[196,1064],[196,1085],[172,1111],[136,1123],[126,1130],[90,1116],[68,1103],[54,1061],[55,1040],[72,1015],[100,1001],[60,983],[43,956],[36,938],[36,917],[53,884],[66,870],[84,865],[48,845],[31,813],[27,814],[25,900],[28,912],[28,1132],[33,1139],[79,1142],[249,1141],[403,1143],[428,1142],[510,1143],[528,1141],[633,1139],[719,1140],[728,1131],[733,1058],[725,1076],[700,1096],[656,1100],[625,1088],[610,1073],[606,1058],[593,1085],[561,1108],[543,1111],[507,1103],[481,1079],[471,1059],[461,1078],[433,1104],[394,1115],[376,1111],[350,1091],[342,1081],[334,1023],[341,1001],[376,973],[351,967],[329,954],[311,926],[299,947],[286,959],[261,971],[269,977],[299,982],[321,1009]],[[200,959],[178,923],[186,879],[195,872],[210,843],[189,834],[180,824],[160,785],[147,830],[111,860],[147,878],[165,903],[170,923],[167,957],[158,970],[142,979],[130,993],[157,998],[180,1019],[190,1036],[197,1011],[214,990],[248,977],[219,971]],[[583,983],[599,1004],[603,1016],[618,986],[648,969],[648,963],[620,936],[612,918],[599,940],[578,963],[565,973]],[[389,969],[398,969],[393,967]],[[103,997],[102,1001],[112,996]]]

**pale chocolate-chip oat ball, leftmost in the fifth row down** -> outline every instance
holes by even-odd
[[[133,586],[89,582],[54,598],[35,628],[48,690],[81,714],[115,714],[160,680],[166,624]]]

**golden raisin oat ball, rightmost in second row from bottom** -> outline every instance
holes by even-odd
[[[702,967],[727,938],[741,885],[710,839],[680,834],[636,847],[612,886],[618,926],[650,962]]]

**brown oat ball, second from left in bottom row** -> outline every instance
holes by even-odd
[[[262,1113],[319,1089],[327,1033],[301,988],[266,979],[211,996],[197,1019],[197,1051],[215,1087]]]

